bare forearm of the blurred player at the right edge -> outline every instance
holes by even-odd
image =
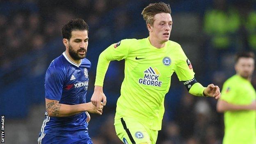
[[[239,111],[239,110],[253,110],[251,105],[234,105],[223,100],[219,100],[217,103],[217,111]]]

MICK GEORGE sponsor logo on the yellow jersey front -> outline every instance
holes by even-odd
[[[139,79],[139,84],[161,87],[162,82],[158,80],[160,75],[161,74],[156,67],[154,69],[149,67],[149,69],[144,71],[144,78]]]

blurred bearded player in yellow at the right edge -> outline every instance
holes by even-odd
[[[256,92],[251,85],[254,53],[239,53],[236,75],[226,80],[217,111],[224,112],[223,144],[256,144]]]

